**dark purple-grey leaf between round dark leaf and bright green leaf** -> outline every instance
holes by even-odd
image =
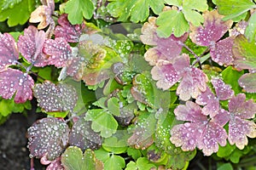
[[[79,116],[69,134],[69,144],[78,146],[81,150],[97,150],[102,145],[102,137],[91,129],[91,122],[85,121],[84,116]]]

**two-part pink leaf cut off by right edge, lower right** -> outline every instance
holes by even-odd
[[[236,147],[242,150],[247,145],[247,136],[256,137],[256,124],[248,121],[255,116],[256,104],[253,99],[245,101],[245,94],[238,94],[230,99],[230,125],[229,125],[229,141],[230,144],[236,144]]]

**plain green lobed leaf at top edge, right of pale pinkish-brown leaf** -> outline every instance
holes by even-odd
[[[71,24],[81,24],[83,17],[90,19],[94,11],[91,0],[69,0],[66,4],[65,13]]]

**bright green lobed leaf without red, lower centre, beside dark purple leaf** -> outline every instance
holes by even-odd
[[[85,120],[91,121],[91,128],[95,132],[101,132],[103,138],[109,138],[116,133],[118,122],[113,116],[102,109],[94,109],[87,112]]]

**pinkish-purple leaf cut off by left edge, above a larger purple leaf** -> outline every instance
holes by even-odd
[[[15,38],[9,33],[0,33],[0,71],[8,65],[15,65],[19,52],[15,46]]]

